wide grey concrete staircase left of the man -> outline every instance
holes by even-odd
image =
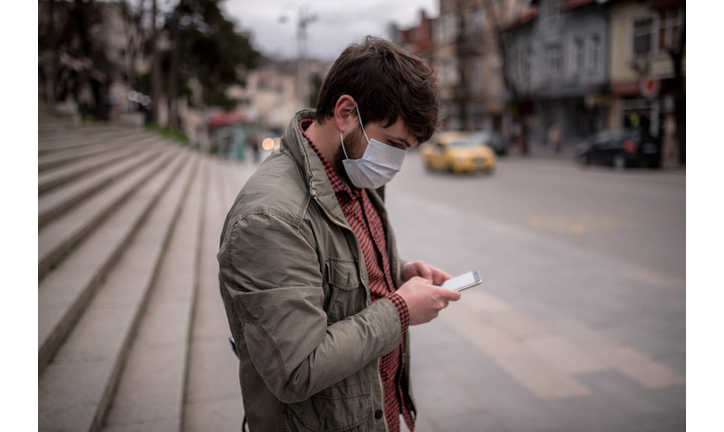
[[[39,112],[38,430],[239,430],[216,252],[252,170]]]

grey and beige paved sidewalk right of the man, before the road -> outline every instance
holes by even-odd
[[[685,430],[684,280],[387,201],[403,257],[484,278],[411,329],[418,432]]]

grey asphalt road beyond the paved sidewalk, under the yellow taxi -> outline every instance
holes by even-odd
[[[514,156],[500,158],[492,175],[460,176],[427,172],[412,151],[388,189],[664,276],[686,276],[684,170],[615,172],[569,158]],[[523,264],[520,258],[511,257]]]

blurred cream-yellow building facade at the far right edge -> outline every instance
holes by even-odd
[[[677,125],[676,99],[680,91],[685,105],[686,53],[679,45],[686,2],[609,0],[605,4],[611,23],[608,125],[612,129],[648,126],[649,132],[660,138],[664,157],[678,159],[676,131],[682,125]],[[670,50],[681,53],[678,83]]]

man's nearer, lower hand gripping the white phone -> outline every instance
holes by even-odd
[[[410,325],[432,321],[442,309],[447,307],[448,302],[460,299],[459,292],[435,286],[430,279],[418,276],[402,284],[397,294],[407,303]]]

